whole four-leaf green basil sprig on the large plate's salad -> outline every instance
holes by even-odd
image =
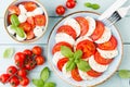
[[[62,46],[61,47],[61,52],[64,57],[69,59],[69,61],[66,64],[66,71],[72,71],[76,66],[83,72],[87,72],[87,71],[91,70],[89,63],[81,59],[81,57],[82,57],[82,51],[81,50],[77,50],[76,52],[73,52],[70,50],[70,48],[68,48],[66,46]]]

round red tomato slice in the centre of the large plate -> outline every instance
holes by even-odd
[[[81,50],[83,52],[82,59],[87,59],[94,54],[95,46],[90,40],[82,40],[77,45],[76,50]]]

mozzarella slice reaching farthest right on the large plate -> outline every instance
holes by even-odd
[[[117,49],[115,49],[115,50],[101,50],[101,49],[98,48],[98,51],[100,52],[100,54],[103,58],[106,58],[106,59],[113,59],[116,55],[118,55],[118,50]]]

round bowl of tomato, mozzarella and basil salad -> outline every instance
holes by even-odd
[[[4,26],[14,40],[34,42],[47,30],[48,13],[37,0],[16,0],[5,11]]]

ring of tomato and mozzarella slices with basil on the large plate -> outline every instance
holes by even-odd
[[[68,78],[96,78],[118,55],[118,42],[110,28],[93,17],[67,17],[56,29],[52,61]]]

